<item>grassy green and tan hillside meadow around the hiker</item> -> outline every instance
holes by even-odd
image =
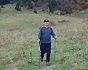
[[[34,14],[33,10],[24,8],[18,12],[14,5],[5,5],[0,13],[0,70],[88,70],[87,18],[88,10],[80,18],[40,11]],[[50,26],[58,36],[56,60],[54,61],[55,40],[52,38],[51,66],[46,66],[44,57],[39,68],[37,37],[44,19],[51,21]]]

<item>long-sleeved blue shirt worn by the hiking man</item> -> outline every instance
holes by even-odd
[[[41,29],[42,29],[42,27],[40,28],[38,38],[39,39],[41,38],[42,43],[50,43],[51,42],[51,35],[53,38],[55,36],[53,29],[50,27],[48,27],[48,28],[43,27],[43,29],[42,30]]]

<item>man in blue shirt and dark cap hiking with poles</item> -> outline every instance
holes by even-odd
[[[40,50],[41,50],[41,61],[43,61],[44,54],[46,54],[46,65],[50,66],[50,53],[51,53],[51,35],[53,38],[57,38],[53,29],[49,27],[49,20],[44,20],[44,27],[40,27],[38,34],[38,42],[41,41]]]

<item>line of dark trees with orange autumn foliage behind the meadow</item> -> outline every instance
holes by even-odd
[[[47,4],[47,9],[49,12],[59,12],[59,14],[71,14],[74,12],[79,12],[81,10],[88,8],[88,0],[0,0],[0,5],[15,2],[17,11],[21,10],[21,7],[25,6],[28,9],[33,9],[34,6],[41,6]]]

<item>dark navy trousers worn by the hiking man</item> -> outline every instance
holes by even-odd
[[[44,54],[46,54],[46,62],[50,61],[50,53],[51,53],[51,42],[50,43],[41,43],[40,45],[41,50],[41,58],[44,57]]]

